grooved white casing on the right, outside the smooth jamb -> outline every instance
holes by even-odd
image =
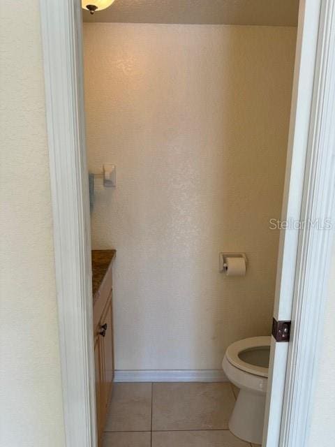
[[[331,219],[333,226],[335,223],[334,124],[335,1],[323,0],[300,218],[305,222],[320,219],[322,226],[327,219]],[[309,225],[299,231],[280,446],[308,445],[332,236],[332,231]]]

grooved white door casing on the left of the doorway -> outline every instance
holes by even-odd
[[[67,447],[96,446],[80,1],[40,0]]]

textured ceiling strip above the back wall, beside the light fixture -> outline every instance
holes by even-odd
[[[88,0],[89,1],[89,0]],[[297,26],[299,0],[115,0],[84,22]]]

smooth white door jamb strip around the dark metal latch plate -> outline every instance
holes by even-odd
[[[318,50],[318,30],[322,0],[300,0],[295,54],[295,75],[292,86],[290,131],[286,159],[283,210],[281,219],[301,219],[308,134],[313,101],[313,84]],[[295,291],[299,231],[281,231],[278,249],[274,318],[290,321]],[[285,393],[283,369],[288,362],[288,344],[271,338],[267,406],[263,445],[278,447]]]

